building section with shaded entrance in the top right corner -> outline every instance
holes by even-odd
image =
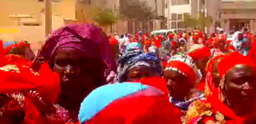
[[[243,27],[256,32],[256,0],[221,0],[222,27],[240,30]]]

